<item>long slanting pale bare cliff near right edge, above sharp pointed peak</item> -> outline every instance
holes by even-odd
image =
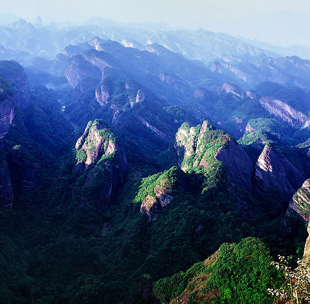
[[[268,112],[279,117],[292,127],[299,128],[307,120],[307,116],[304,113],[282,100],[265,96],[259,102]]]

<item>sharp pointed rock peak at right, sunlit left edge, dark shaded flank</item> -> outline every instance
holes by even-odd
[[[290,161],[266,145],[256,162],[255,181],[258,189],[278,189],[281,202],[285,205],[302,185],[304,177]]]

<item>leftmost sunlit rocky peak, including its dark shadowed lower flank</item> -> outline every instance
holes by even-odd
[[[125,154],[101,120],[88,123],[84,134],[76,142],[75,150],[77,162],[74,175],[84,182],[78,186],[80,190],[73,192],[74,199],[85,206],[95,203],[100,209],[106,209],[127,174]]]

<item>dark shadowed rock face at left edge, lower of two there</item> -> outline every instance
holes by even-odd
[[[13,202],[13,189],[9,170],[4,163],[0,162],[0,207],[11,209]]]

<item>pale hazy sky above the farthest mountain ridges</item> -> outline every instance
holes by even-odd
[[[1,13],[27,20],[40,15],[45,25],[101,16],[122,22],[164,21],[173,27],[225,31],[265,41],[268,36],[272,41],[291,37],[288,44],[303,41],[295,33],[299,29],[310,30],[309,0],[0,0],[0,5]],[[287,29],[291,36],[285,35]]]

